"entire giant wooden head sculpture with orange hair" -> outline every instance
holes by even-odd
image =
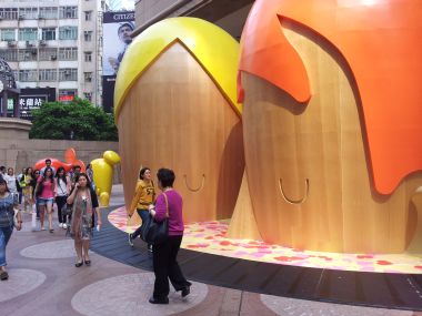
[[[421,32],[421,1],[255,1],[238,89],[264,241],[422,252]]]

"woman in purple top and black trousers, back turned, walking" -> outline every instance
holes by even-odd
[[[157,197],[155,210],[150,210],[150,213],[157,222],[162,222],[169,213],[169,238],[163,244],[154,245],[152,262],[155,282],[154,293],[149,302],[151,304],[169,304],[169,278],[174,289],[181,290],[182,297],[189,295],[191,286],[177,262],[184,230],[183,201],[180,194],[173,190],[175,176],[172,170],[160,169],[157,177],[162,193]]]

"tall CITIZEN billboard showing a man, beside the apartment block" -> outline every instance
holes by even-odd
[[[102,20],[102,108],[113,110],[114,82],[134,30],[134,11],[104,12]]]

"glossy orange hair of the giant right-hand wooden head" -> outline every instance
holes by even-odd
[[[281,27],[290,20],[325,38],[346,60],[362,100],[374,187],[390,194],[422,170],[422,2],[257,1],[242,34],[240,71],[305,102],[312,94],[307,70]]]

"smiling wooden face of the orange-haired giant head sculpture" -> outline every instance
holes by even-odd
[[[295,248],[403,252],[410,198],[422,174],[408,176],[391,196],[372,190],[348,67],[323,39],[300,31],[285,30],[310,77],[308,104],[242,74],[245,161],[259,231],[267,242]]]

